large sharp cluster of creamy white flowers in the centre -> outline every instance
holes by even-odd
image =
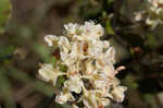
[[[58,77],[65,77],[55,101],[68,103],[73,108],[104,108],[111,100],[123,101],[127,88],[120,85],[115,75],[125,68],[114,69],[115,50],[109,41],[100,40],[103,27],[90,21],[84,25],[70,23],[64,28],[64,36],[45,37],[55,50],[58,62],[45,63],[38,71],[40,77],[53,86]],[[61,71],[61,64],[66,71]]]

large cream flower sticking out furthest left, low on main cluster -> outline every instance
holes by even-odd
[[[43,81],[52,81],[53,85],[55,85],[58,76],[65,74],[54,69],[52,64],[43,64],[42,68],[38,70],[38,73]]]

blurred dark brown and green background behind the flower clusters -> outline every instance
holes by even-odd
[[[37,76],[39,62],[54,62],[43,36],[90,20],[104,26],[115,67],[126,67],[117,74],[126,98],[106,108],[163,108],[163,26],[135,22],[145,1],[0,0],[0,108],[71,108],[55,104],[55,89]]]

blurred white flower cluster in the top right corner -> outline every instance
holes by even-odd
[[[147,9],[136,13],[136,20],[140,21],[146,17],[146,23],[155,28],[163,24],[163,0],[148,0]]]

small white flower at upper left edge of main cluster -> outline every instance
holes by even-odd
[[[52,47],[53,43],[57,41],[57,40],[59,40],[59,38],[55,35],[47,35],[45,37],[45,40],[48,43],[49,47]]]

